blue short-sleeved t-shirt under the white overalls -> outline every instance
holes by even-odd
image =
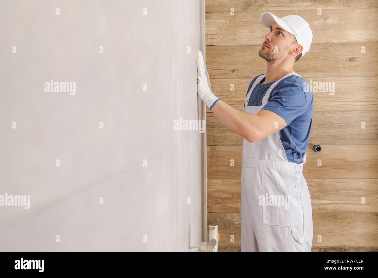
[[[249,84],[247,95],[259,76],[256,76]],[[263,81],[265,77],[260,83]],[[260,106],[263,96],[274,82],[276,81],[263,85],[257,84],[249,97],[247,106]],[[304,88],[306,82],[306,79],[296,75],[282,79],[273,88],[268,103],[262,108],[281,116],[288,124],[279,131],[279,134],[287,160],[294,163],[302,163],[310,140],[314,96],[311,90],[306,92]]]

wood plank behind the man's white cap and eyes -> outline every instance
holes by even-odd
[[[260,22],[263,11],[207,12],[206,45],[262,45],[269,28]],[[286,10],[273,11],[275,16],[287,16]],[[327,9],[318,15],[313,9],[290,11],[308,23],[313,33],[310,52],[316,43],[365,43],[378,40],[378,9]],[[361,18],[364,20],[361,20]],[[345,21],[345,19],[348,19]],[[365,21],[366,20],[366,21]],[[370,28],[366,28],[369,22]],[[372,28],[371,28],[372,27]],[[353,34],[351,36],[350,34]],[[307,55],[307,54],[306,54]]]

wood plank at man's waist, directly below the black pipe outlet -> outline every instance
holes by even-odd
[[[243,146],[208,146],[208,179],[240,179],[242,151]],[[378,145],[336,144],[322,145],[321,152],[309,149],[303,173],[306,179],[378,179],[377,169]]]

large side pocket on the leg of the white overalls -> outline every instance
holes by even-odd
[[[261,171],[263,224],[302,227],[303,230],[301,173],[267,168]],[[298,234],[297,230],[293,233]]]

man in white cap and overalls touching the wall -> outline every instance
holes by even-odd
[[[244,138],[242,252],[311,252],[311,199],[303,165],[313,95],[293,68],[310,50],[312,31],[300,16],[279,18],[264,12],[260,21],[270,28],[259,51],[267,62],[266,75],[249,84],[243,112],[211,92],[200,51],[198,95],[225,126]]]

